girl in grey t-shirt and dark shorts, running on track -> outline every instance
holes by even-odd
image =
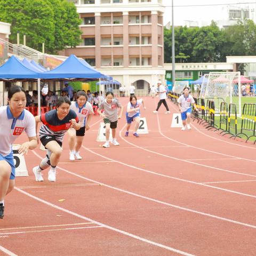
[[[121,108],[119,116],[117,115],[117,108]],[[101,113],[101,109],[104,110],[104,113]],[[123,106],[117,99],[114,99],[113,92],[106,93],[106,99],[100,103],[99,109],[97,111],[103,118],[103,121],[106,125],[106,143],[103,145],[103,148],[109,148],[110,128],[112,129],[113,138],[111,143],[115,146],[119,146],[119,143],[116,141],[116,127],[117,119],[122,117]]]

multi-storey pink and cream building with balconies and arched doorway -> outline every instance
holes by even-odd
[[[82,44],[66,49],[129,90],[148,91],[164,79],[162,0],[74,0]]]

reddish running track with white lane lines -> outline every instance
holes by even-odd
[[[123,116],[118,147],[100,147],[94,116],[84,158],[70,163],[65,135],[55,183],[47,171],[34,180],[45,151],[29,152],[29,177],[5,200],[0,255],[256,254],[256,147],[197,123],[181,132],[163,106],[152,113],[157,99],[145,103],[149,134],[123,137]]]

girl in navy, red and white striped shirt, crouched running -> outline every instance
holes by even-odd
[[[42,171],[51,166],[48,172],[48,180],[56,181],[56,166],[61,156],[61,146],[65,132],[70,127],[79,130],[81,124],[74,110],[70,110],[71,102],[67,97],[60,97],[57,101],[57,109],[53,109],[45,114],[36,116],[36,131],[38,123],[43,125],[39,130],[39,138],[43,146],[47,149],[46,157],[41,163],[33,168],[36,181],[43,181]]]

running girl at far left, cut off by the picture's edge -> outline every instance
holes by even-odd
[[[25,131],[28,141],[22,143],[19,154],[27,154],[37,146],[34,116],[25,109],[25,90],[18,86],[8,91],[8,106],[0,107],[0,218],[4,217],[4,198],[14,187],[15,165],[12,144]]]

